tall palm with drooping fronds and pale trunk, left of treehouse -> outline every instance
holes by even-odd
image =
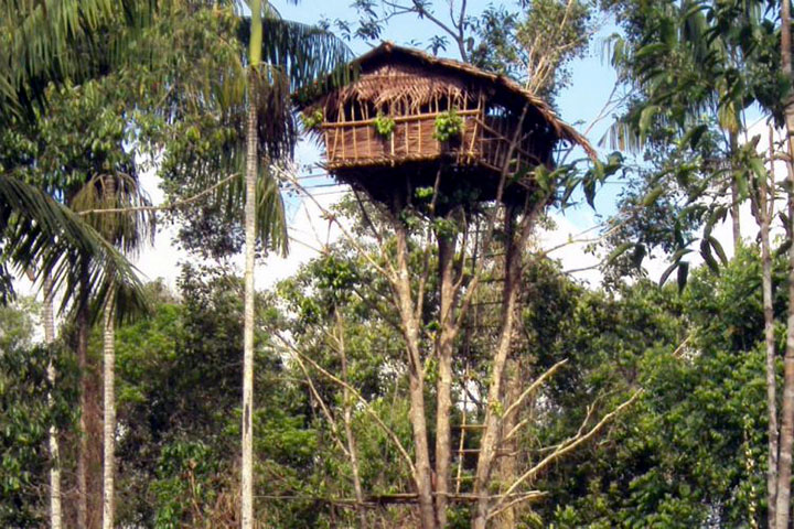
[[[245,226],[244,374],[242,423],[240,506],[243,527],[254,522],[254,267],[257,241],[265,250],[287,251],[287,231],[279,186],[271,165],[290,159],[298,127],[290,94],[316,83],[344,80],[351,55],[324,30],[280,19],[259,0],[250,3],[250,18],[240,18],[236,41],[247,53],[228,54],[223,75],[210,79],[193,108],[219,116],[221,126],[235,133],[221,156],[189,156],[180,165],[206,188],[228,174],[245,175],[224,190],[219,204],[233,217],[243,206]],[[198,58],[198,57],[197,57]],[[337,75],[332,75],[336,73]],[[190,75],[190,73],[189,73]],[[176,97],[180,97],[179,95]],[[190,97],[190,95],[187,95]]]

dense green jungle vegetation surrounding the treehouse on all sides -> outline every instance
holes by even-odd
[[[246,140],[259,162],[250,175],[257,242],[248,248],[285,251],[281,190],[272,176],[290,169],[300,130],[290,94],[335,82],[326,75],[348,58],[328,29],[372,41],[390,19],[416,17],[439,30],[426,43],[434,53],[457,47],[461,60],[554,102],[569,84],[571,61],[598,31],[597,18],[608,14],[620,29],[607,47],[623,97],[611,99],[620,116],[604,143],[625,156],[577,173],[561,154],[559,168],[533,173],[533,196],[561,206],[578,199],[579,184],[592,206],[597,183],[619,171],[627,179],[618,213],[594,244],[605,249],[604,282],[581,284],[543,251],[519,256],[506,397],[489,402],[507,306],[501,298],[507,264],[493,258],[507,253],[513,237],[505,225],[489,234],[494,253],[451,338],[454,501],[440,511],[447,527],[469,527],[484,423],[497,417],[504,439],[487,487],[506,490],[496,506],[512,492],[521,496],[508,512],[494,514],[498,527],[773,528],[768,427],[780,396],[773,390],[770,402],[768,388],[784,380],[794,205],[776,212],[784,229],[771,255],[772,220],[763,208],[775,196],[794,204],[794,193],[765,165],[774,158],[791,164],[791,153],[764,159],[759,138],[748,138],[747,115],[780,125],[794,112],[792,79],[779,66],[786,53],[777,6],[534,0],[472,15],[465,2],[449,2],[446,21],[431,2],[358,0],[356,23],[329,21],[325,29],[264,9],[256,51],[264,64],[251,68],[246,50],[261,35],[237,4],[85,0],[68,11],[71,4],[55,3],[10,1],[0,11],[8,15],[0,21],[0,525],[44,525],[49,472],[60,468],[64,521],[75,526],[85,440],[93,435],[94,456],[100,447],[97,431],[85,425],[86,418],[101,422],[98,366],[108,343],[99,314],[115,310],[118,409],[109,436],[119,526],[239,526],[245,417],[254,424],[257,520],[418,527],[411,386],[420,380],[419,396],[440,401],[443,380],[441,355],[433,355],[444,335],[443,294],[437,274],[425,274],[443,252],[431,242],[472,229],[469,255],[448,261],[460,270],[465,298],[466,262],[474,270],[484,259],[480,229],[497,208],[461,184],[449,196],[416,188],[412,205],[390,218],[361,195],[328,212],[324,220],[339,220],[352,237],[256,294],[256,389],[253,411],[244,413],[244,283],[229,262],[244,240]],[[303,118],[307,129],[322,121]],[[440,114],[433,137],[454,141],[461,123],[454,109]],[[394,118],[377,114],[373,132],[387,141],[394,129]],[[184,264],[174,290],[143,287],[122,257],[152,235],[152,208],[138,188],[152,168],[179,244],[205,260]],[[762,231],[759,245],[741,237],[745,202]],[[434,217],[454,204],[465,214]],[[104,208],[135,213],[87,212]],[[730,217],[729,257],[713,233]],[[395,303],[398,283],[383,273],[401,244],[404,284],[409,299],[419,299],[411,317],[420,361],[406,356],[408,316]],[[704,266],[690,271],[696,252]],[[652,282],[643,263],[661,253],[669,268]],[[55,280],[61,338],[41,343],[39,306],[13,301],[13,273]],[[669,278],[677,284],[665,284]],[[764,280],[771,298],[762,294]],[[794,367],[794,347],[785,358]],[[92,412],[86,399],[96,401]],[[443,428],[437,408],[423,409],[432,445]],[[60,444],[57,458],[52,443]],[[429,453],[436,458],[438,450]],[[96,479],[101,468],[94,466]],[[517,468],[529,471],[518,478]],[[96,494],[92,501],[96,515]]]

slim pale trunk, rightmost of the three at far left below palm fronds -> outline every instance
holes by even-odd
[[[110,287],[112,289],[112,287]],[[103,447],[103,529],[112,529],[116,514],[116,336],[115,336],[115,295],[112,291],[105,306],[103,325],[103,380],[105,384],[105,435]]]

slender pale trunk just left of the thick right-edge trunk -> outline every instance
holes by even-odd
[[[770,154],[774,153],[772,134],[770,133]],[[764,342],[766,345],[766,411],[768,458],[766,458],[766,501],[768,527],[775,529],[775,501],[777,496],[777,384],[775,368],[774,313],[772,311],[772,252],[770,249],[770,223],[774,215],[774,156],[770,155],[770,182],[759,182],[758,215],[761,220],[761,268],[764,313]]]

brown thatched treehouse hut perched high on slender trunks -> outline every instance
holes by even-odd
[[[529,170],[554,166],[578,132],[515,82],[457,61],[384,43],[352,63],[353,80],[299,104],[335,177],[403,207],[438,182],[442,195],[523,201]]]

